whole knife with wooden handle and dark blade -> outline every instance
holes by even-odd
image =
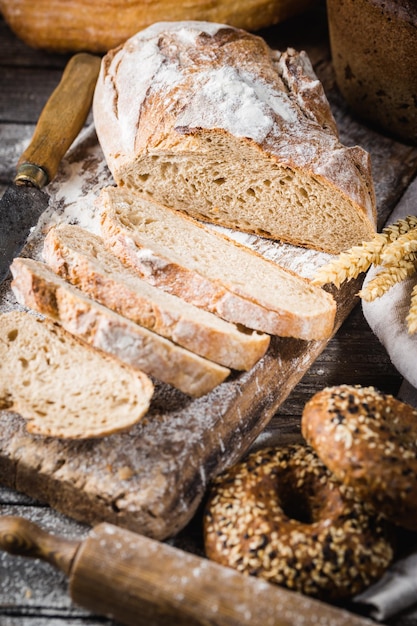
[[[100,64],[100,57],[86,53],[69,60],[19,159],[14,182],[0,200],[0,283],[48,206],[48,195],[41,190],[55,177],[87,119]]]

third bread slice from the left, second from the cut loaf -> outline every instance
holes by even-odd
[[[52,228],[43,257],[91,298],[220,365],[249,370],[268,348],[269,335],[237,327],[153,287],[111,254],[100,237],[79,226]]]

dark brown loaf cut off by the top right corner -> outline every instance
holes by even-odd
[[[329,0],[327,11],[336,81],[352,112],[417,145],[416,0]]]

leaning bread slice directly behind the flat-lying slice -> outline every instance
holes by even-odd
[[[44,263],[14,259],[12,289],[20,304],[57,320],[68,332],[123,363],[173,385],[204,395],[230,370],[177,346],[88,298]]]

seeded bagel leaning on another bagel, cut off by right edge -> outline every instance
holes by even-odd
[[[417,530],[417,410],[374,387],[327,387],[305,405],[302,433],[341,482]]]

